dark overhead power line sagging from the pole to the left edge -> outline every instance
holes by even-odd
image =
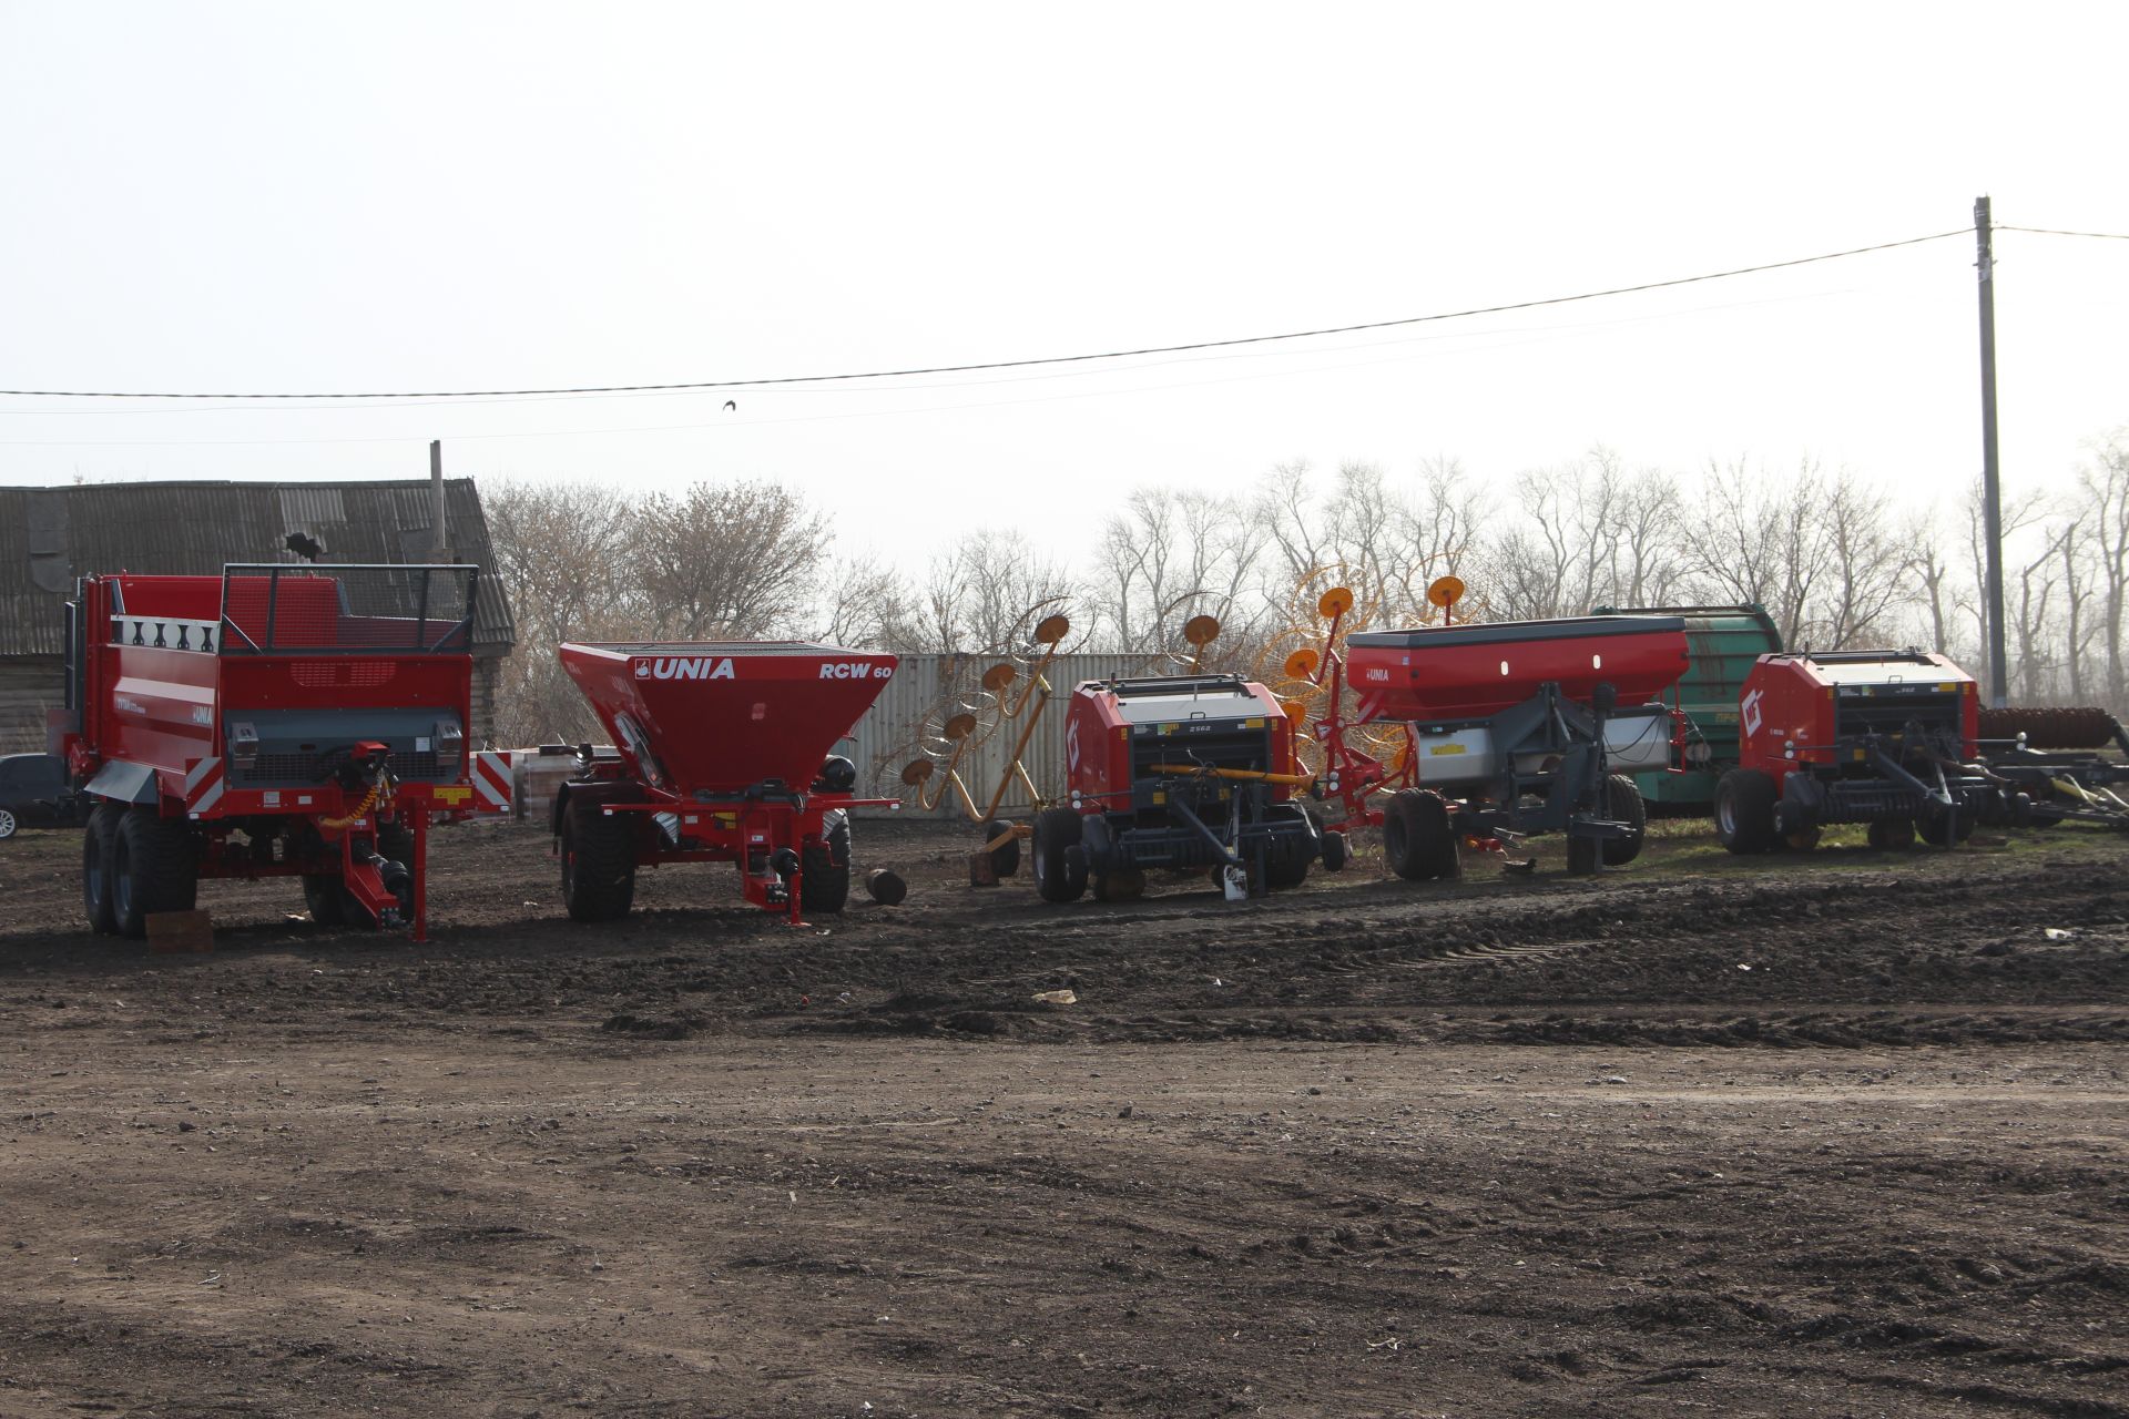
[[[700,379],[700,381],[675,381],[662,385],[568,385],[558,389],[400,389],[400,391],[375,391],[375,394],[332,394],[332,391],[311,391],[311,394],[170,394],[170,391],[113,391],[113,389],[0,389],[0,396],[21,396],[21,398],[49,398],[49,400],[479,400],[479,398],[513,398],[513,396],[562,396],[562,394],[656,394],[666,389],[760,389],[766,385],[822,385],[822,383],[854,383],[869,379],[903,379],[913,374],[973,374],[977,370],[1024,370],[1030,366],[1054,366],[1054,364],[1088,364],[1096,360],[1130,360],[1137,355],[1179,355],[1199,349],[1233,349],[1237,345],[1271,345],[1277,340],[1309,340],[1333,334],[1356,334],[1363,330],[1392,330],[1397,325],[1426,325],[1437,321],[1469,319],[1473,315],[1505,315],[1509,311],[1535,311],[1539,306],[1565,306],[1582,300],[1603,300],[1607,296],[1633,296],[1639,291],[1661,291],[1678,285],[1695,285],[1701,281],[1724,281],[1729,277],[1750,277],[1763,270],[1784,270],[1790,266],[1812,266],[1816,262],[1837,262],[1850,255],[1867,255],[1871,251],[1891,251],[1895,247],[1918,247],[1931,240],[1944,240],[1948,236],[1967,236],[1971,228],[1959,228],[1957,232],[1931,232],[1929,236],[1908,236],[1903,240],[1876,243],[1871,247],[1850,247],[1846,251],[1822,251],[1818,255],[1799,255],[1788,262],[1765,262],[1761,266],[1737,266],[1733,270],[1712,270],[1699,277],[1673,277],[1669,281],[1644,281],[1641,285],[1614,285],[1603,291],[1582,291],[1580,296],[1548,296],[1544,300],[1516,300],[1499,306],[1471,306],[1469,311],[1441,311],[1435,315],[1405,315],[1386,321],[1360,321],[1356,325],[1324,325],[1318,330],[1288,330],[1282,334],[1256,334],[1256,336],[1233,336],[1226,340],[1190,340],[1184,345],[1145,345],[1139,349],[1111,349],[1084,355],[1039,355],[1028,360],[986,360],[977,364],[935,364],[935,366],[913,366],[903,370],[862,370],[845,374],[781,374],[771,379]]]

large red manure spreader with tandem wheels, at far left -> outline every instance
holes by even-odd
[[[471,566],[106,574],[68,604],[53,753],[94,800],[89,925],[147,934],[202,877],[300,877],[321,923],[426,938],[434,817],[505,813],[473,753]]]

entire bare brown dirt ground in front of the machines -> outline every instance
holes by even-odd
[[[0,1415],[2129,1415],[2129,840],[967,849],[581,928],[458,828],[430,945],[217,883],[147,955],[0,845]]]

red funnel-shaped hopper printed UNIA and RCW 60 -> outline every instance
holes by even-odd
[[[562,668],[634,772],[694,798],[805,789],[894,677],[894,655],[803,640],[564,645]]]

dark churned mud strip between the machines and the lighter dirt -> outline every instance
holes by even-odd
[[[515,919],[498,908],[428,947],[302,921],[236,925],[189,966],[70,932],[15,934],[0,940],[0,1015],[126,1021],[175,1040],[549,1019],[605,1021],[605,1047],[811,1030],[1854,1047],[2120,1040],[2129,1006],[2129,866],[2112,859],[1446,887],[1348,874],[1248,904],[1190,889],[1071,906],[930,868],[911,906],[790,930],[745,908],[677,906],[722,885],[675,891],[679,879],[611,928],[549,919],[532,885],[547,864],[522,842],[479,847],[488,857],[449,862],[490,874],[481,894]],[[496,877],[505,868],[517,877]],[[60,919],[75,911],[47,904]],[[2069,936],[2048,940],[2044,925]],[[1077,1004],[1033,1000],[1056,989]]]

